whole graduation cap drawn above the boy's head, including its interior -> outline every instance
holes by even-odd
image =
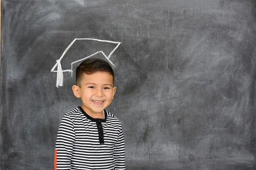
[[[51,69],[51,72],[57,72],[56,87],[63,86],[63,72],[70,72],[73,77],[73,65],[92,56],[103,54],[103,56],[114,66],[110,57],[118,48],[121,42],[108,40],[97,40],[92,38],[75,38],[70,45],[67,46],[61,57]],[[104,52],[103,52],[104,51]],[[106,55],[108,54],[108,56]],[[64,57],[65,56],[65,57]],[[68,69],[71,63],[71,68]],[[67,69],[62,69],[66,68]],[[55,70],[57,68],[57,70]]]

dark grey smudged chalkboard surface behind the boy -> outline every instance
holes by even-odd
[[[2,0],[1,169],[53,169],[92,54],[115,71],[127,170],[256,169],[255,4]]]

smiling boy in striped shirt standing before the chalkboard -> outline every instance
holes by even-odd
[[[104,110],[116,92],[113,85],[114,72],[102,59],[86,59],[76,68],[72,89],[82,105],[61,120],[55,170],[125,170],[121,122]]]

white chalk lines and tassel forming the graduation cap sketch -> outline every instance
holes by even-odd
[[[99,41],[99,42],[109,42],[109,43],[113,43],[113,44],[117,44],[116,47],[111,51],[110,54],[108,54],[108,56],[103,52],[103,51],[97,51],[94,54],[91,54],[90,56],[84,57],[82,59],[79,59],[77,61],[74,61],[71,63],[71,69],[70,70],[62,70],[61,68],[61,59],[64,57],[64,55],[66,54],[66,52],[69,50],[69,48],[74,44],[74,42],[76,40],[94,40],[94,41]],[[76,62],[81,62],[84,59],[87,59],[89,57],[92,57],[98,53],[102,53],[104,55],[104,57],[108,60],[108,62],[111,63],[111,65],[115,66],[113,64],[113,62],[111,62],[111,60],[109,59],[111,57],[111,55],[113,54],[113,52],[116,50],[116,48],[118,48],[118,46],[121,44],[121,42],[115,42],[115,41],[108,41],[108,40],[98,40],[98,39],[93,39],[93,38],[75,38],[70,45],[67,46],[67,48],[65,49],[65,51],[63,52],[63,54],[61,55],[61,57],[56,61],[56,64],[53,66],[53,68],[51,69],[51,72],[57,72],[57,81],[56,81],[56,87],[58,88],[59,86],[63,86],[63,72],[71,72],[71,77],[73,77],[73,64]],[[55,70],[55,68],[57,68],[57,70]]]

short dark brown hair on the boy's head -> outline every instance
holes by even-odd
[[[112,67],[108,64],[108,62],[102,59],[90,58],[81,62],[81,64],[76,68],[76,85],[81,87],[81,81],[83,80],[84,73],[93,74],[97,71],[107,72],[111,74],[113,77],[114,84],[114,71]]]

